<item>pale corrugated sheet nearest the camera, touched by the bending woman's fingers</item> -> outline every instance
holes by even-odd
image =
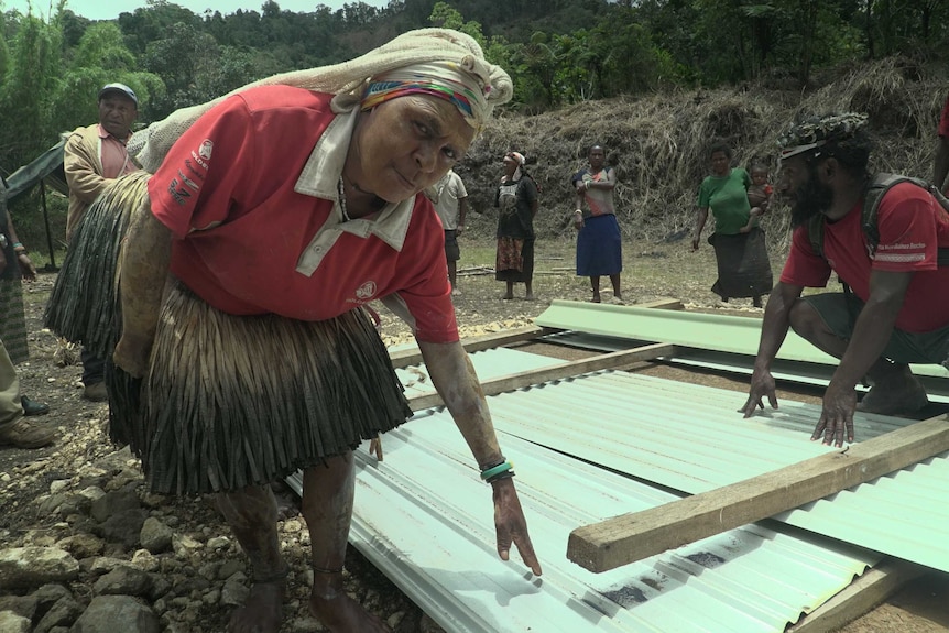
[[[450,417],[416,417],[382,463],[360,454],[351,542],[447,631],[777,632],[879,559],[749,525],[593,575],[565,557],[571,530],[676,496],[502,437],[544,565],[532,578],[498,559],[491,491]]]

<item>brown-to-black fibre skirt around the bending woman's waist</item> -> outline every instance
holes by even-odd
[[[164,494],[268,483],[412,415],[363,310],[325,321],[233,316],[175,280],[146,378],[112,368],[106,382],[113,438],[128,437]],[[122,396],[135,388],[138,397]]]

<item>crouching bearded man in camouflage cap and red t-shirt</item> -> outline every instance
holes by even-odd
[[[830,114],[792,125],[782,149],[777,189],[792,206],[794,236],[779,283],[767,302],[745,417],[777,407],[771,363],[788,327],[840,359],[811,439],[853,441],[853,412],[918,411],[926,391],[908,363],[941,363],[949,353],[949,219],[928,190],[908,182],[886,189],[877,207],[875,249],[862,228],[871,143],[864,114]],[[810,231],[822,228],[820,250]],[[801,297],[835,272],[852,292]],[[855,386],[870,392],[857,403]]]

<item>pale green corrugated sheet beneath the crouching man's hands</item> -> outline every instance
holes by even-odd
[[[739,392],[604,372],[556,389],[506,393],[491,401],[509,434],[688,493],[698,493],[833,450],[809,441],[820,407],[782,401],[743,419]],[[857,438],[912,424],[855,415]],[[943,454],[897,473],[782,515],[793,525],[942,571],[949,542]]]

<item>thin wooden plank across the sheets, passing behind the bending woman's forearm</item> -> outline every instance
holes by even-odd
[[[561,380],[591,371],[603,371],[612,369],[622,371],[645,360],[653,360],[663,356],[675,356],[675,346],[666,343],[652,343],[634,349],[614,351],[582,360],[575,360],[555,364],[544,369],[522,371],[509,375],[502,375],[481,383],[484,395],[495,395],[505,391],[514,391],[532,384],[541,384],[552,380]],[[422,411],[444,404],[441,396],[437,393],[416,395],[408,399],[412,411]]]

